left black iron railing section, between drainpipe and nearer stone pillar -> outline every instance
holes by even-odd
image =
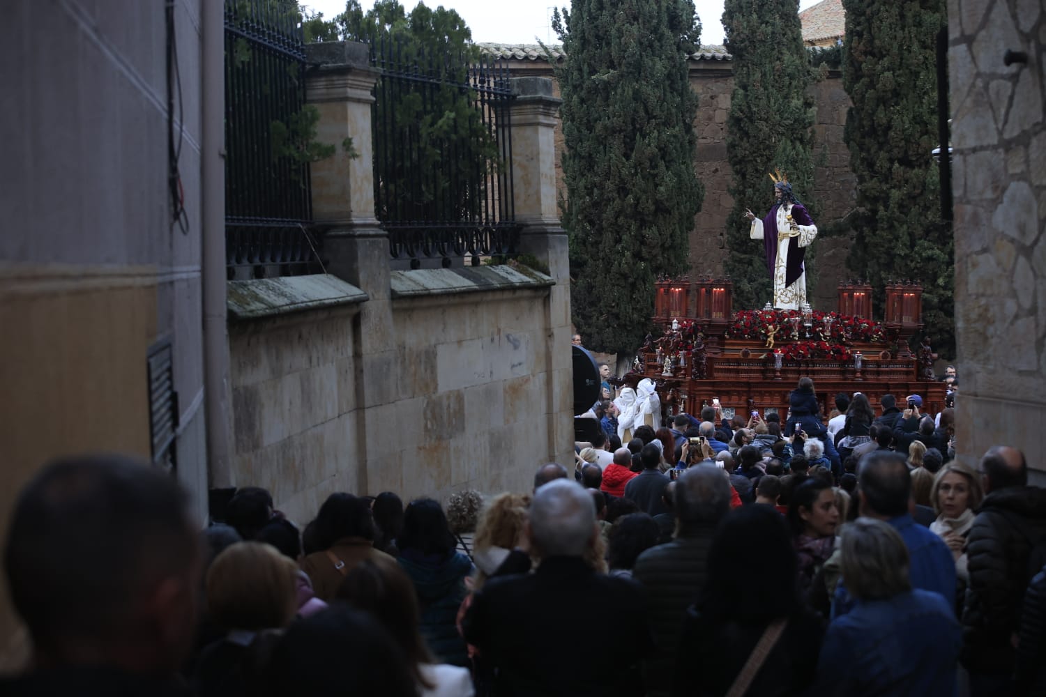
[[[309,164],[295,157],[305,99],[297,6],[225,0],[225,238],[229,278],[319,271]]]

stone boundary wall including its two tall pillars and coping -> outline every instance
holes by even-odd
[[[363,154],[313,166],[329,274],[229,284],[229,484],[269,488],[301,522],[334,491],[395,491],[406,501],[464,488],[529,491],[540,465],[573,463],[551,83],[516,80],[511,108],[520,251],[547,273],[460,260],[391,271],[373,217],[378,75],[365,48],[310,47],[321,66],[308,84],[319,138],[339,142],[347,133]]]

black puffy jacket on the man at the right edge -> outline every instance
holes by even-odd
[[[1032,547],[1046,540],[1046,489],[1009,487],[981,503],[967,537],[970,585],[962,611],[962,664],[1008,672],[1021,625]]]

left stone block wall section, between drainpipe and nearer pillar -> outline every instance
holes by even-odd
[[[335,491],[362,492],[355,307],[229,326],[233,486],[262,486],[306,522]]]

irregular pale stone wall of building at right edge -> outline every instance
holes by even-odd
[[[1046,480],[1046,18],[1023,0],[948,16],[959,455],[1015,445]]]

